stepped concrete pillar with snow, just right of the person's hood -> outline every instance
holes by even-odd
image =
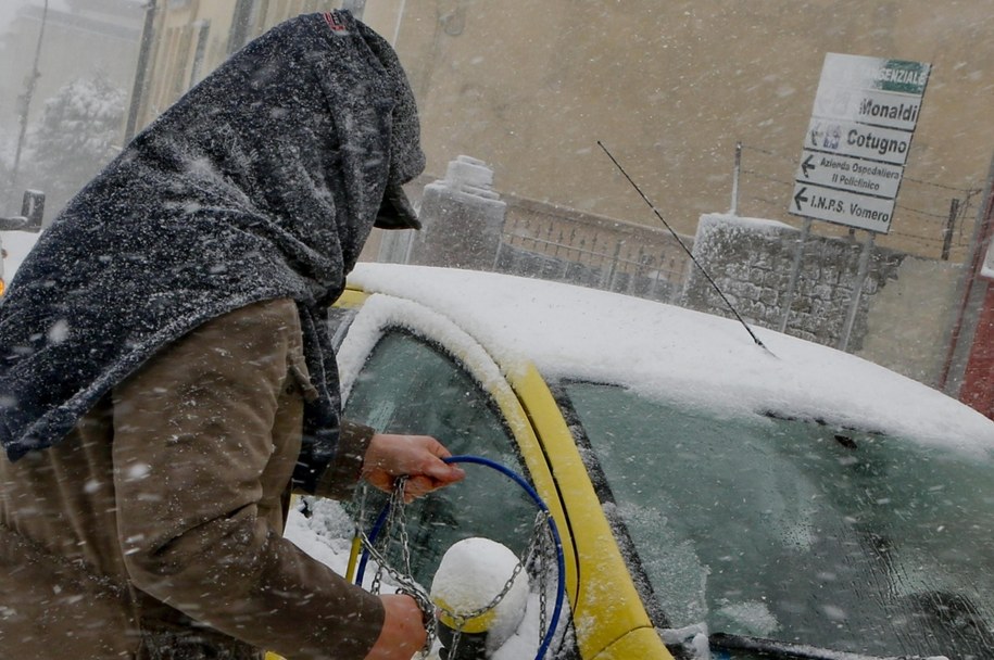
[[[507,211],[492,186],[493,170],[481,161],[450,162],[444,180],[425,187],[408,263],[492,270]]]

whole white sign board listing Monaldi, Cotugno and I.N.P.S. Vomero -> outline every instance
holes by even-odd
[[[828,53],[790,213],[890,231],[930,65]]]

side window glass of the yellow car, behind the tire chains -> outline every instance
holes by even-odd
[[[406,331],[386,333],[352,385],[345,417],[381,432],[432,435],[453,454],[474,454],[524,474],[514,436],[485,389],[436,345]],[[430,583],[444,551],[469,536],[503,543],[518,556],[536,509],[506,477],[466,466],[464,482],[406,508],[412,572]],[[362,494],[354,506],[360,506]],[[369,492],[367,529],[386,498]]]

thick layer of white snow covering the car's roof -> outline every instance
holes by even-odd
[[[834,348],[681,307],[559,282],[360,264],[350,282],[407,299],[467,331],[505,371],[628,385],[719,414],[773,412],[994,455],[994,421]]]

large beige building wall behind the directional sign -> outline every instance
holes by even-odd
[[[139,123],[266,27],[341,1],[160,0]],[[889,236],[962,261],[994,150],[990,0],[352,0],[394,43],[421,111],[426,180],[467,154],[494,188],[678,231],[732,202],[784,220],[827,52],[929,62],[932,74]],[[952,231],[946,236],[946,231]],[[844,228],[816,223],[820,233]],[[857,238],[863,238],[861,232]]]

